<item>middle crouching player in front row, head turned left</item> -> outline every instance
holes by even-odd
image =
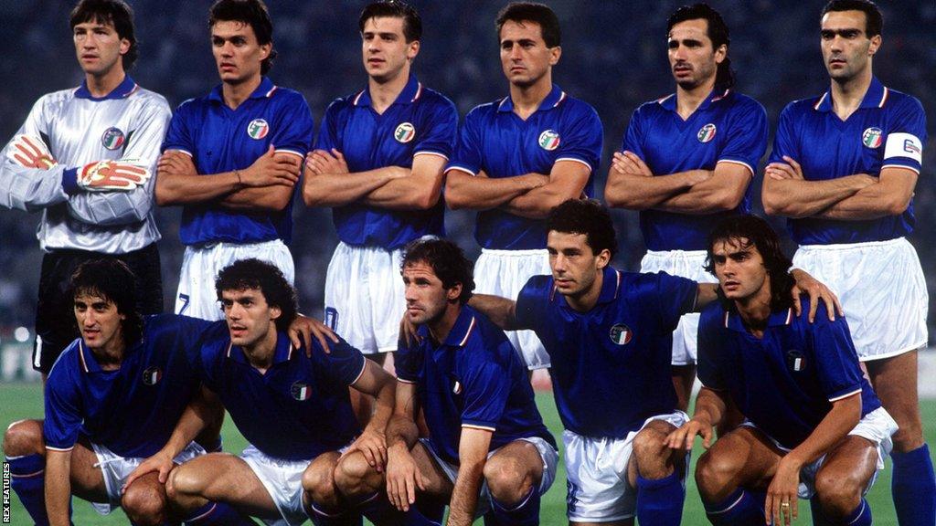
[[[402,281],[405,321],[417,332],[402,339],[395,357],[387,469],[349,455],[335,483],[354,499],[386,499],[386,489],[390,503],[409,513],[444,501],[449,525],[485,514],[488,524],[538,524],[558,452],[504,331],[465,304],[475,285],[472,263],[450,241],[415,241],[403,256]],[[420,409],[428,438],[418,438]],[[383,519],[373,510],[368,518]]]

